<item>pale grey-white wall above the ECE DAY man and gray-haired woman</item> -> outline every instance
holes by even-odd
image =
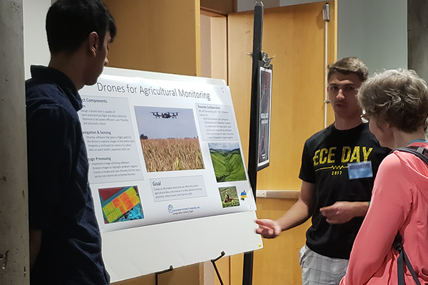
[[[337,58],[345,56],[370,73],[407,68],[407,1],[338,0]]]

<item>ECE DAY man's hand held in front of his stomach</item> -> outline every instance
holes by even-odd
[[[356,213],[355,207],[357,203],[360,204],[361,202],[338,201],[329,207],[322,207],[320,212],[327,218],[326,220],[329,224],[345,224],[345,222],[349,222],[353,217],[360,215]],[[367,202],[363,203],[367,204]]]

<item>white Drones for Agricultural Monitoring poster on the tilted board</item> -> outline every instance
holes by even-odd
[[[255,211],[228,86],[103,74],[80,93],[101,232]]]

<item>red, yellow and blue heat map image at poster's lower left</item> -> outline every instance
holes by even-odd
[[[98,189],[103,209],[104,224],[144,219],[138,187]]]

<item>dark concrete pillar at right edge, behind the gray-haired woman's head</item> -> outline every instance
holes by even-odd
[[[407,1],[408,68],[428,81],[428,1]]]

